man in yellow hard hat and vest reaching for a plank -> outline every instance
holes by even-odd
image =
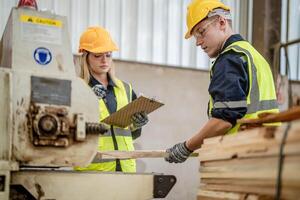
[[[279,112],[272,73],[266,60],[234,34],[230,8],[218,0],[194,0],[188,6],[185,38],[215,58],[210,69],[209,120],[189,140],[167,149],[166,161],[184,162],[205,138],[236,133],[237,119]]]

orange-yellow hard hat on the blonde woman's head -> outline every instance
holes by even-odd
[[[79,52],[83,50],[104,53],[119,49],[107,30],[102,27],[89,27],[80,37]]]

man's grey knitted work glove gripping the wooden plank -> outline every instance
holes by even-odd
[[[165,161],[169,163],[182,163],[184,162],[193,151],[186,147],[185,142],[175,144],[173,147],[166,150],[169,155],[165,157]]]

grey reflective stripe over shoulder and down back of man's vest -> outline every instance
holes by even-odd
[[[255,113],[259,110],[269,110],[269,109],[276,109],[278,108],[276,100],[263,100],[259,101],[259,88],[258,88],[258,82],[256,77],[256,66],[253,61],[253,57],[250,54],[250,52],[246,49],[243,49],[240,46],[234,45],[229,46],[228,49],[236,49],[237,51],[242,51],[245,53],[248,58],[250,59],[251,63],[251,73],[252,73],[252,87],[250,91],[250,104],[248,104],[247,114]],[[225,50],[226,51],[226,50]],[[224,52],[225,52],[224,51]]]

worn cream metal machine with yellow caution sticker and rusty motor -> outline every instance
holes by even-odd
[[[76,172],[96,155],[98,100],[76,77],[66,17],[13,8],[0,43],[0,199],[152,199],[162,174]],[[69,168],[69,169],[66,169]]]

